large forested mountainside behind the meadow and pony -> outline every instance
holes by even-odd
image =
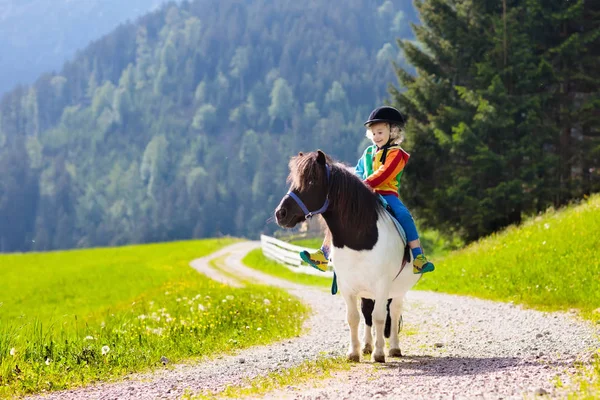
[[[274,229],[291,155],[356,161],[415,21],[401,0],[196,0],[118,27],[2,97],[0,251]]]

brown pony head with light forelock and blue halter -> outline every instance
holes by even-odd
[[[293,228],[313,213],[327,209],[331,164],[331,159],[321,150],[298,153],[291,158],[287,179],[290,189],[275,209],[279,226]]]

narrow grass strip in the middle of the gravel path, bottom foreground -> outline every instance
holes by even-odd
[[[275,389],[289,385],[301,385],[308,382],[330,378],[334,371],[349,370],[350,364],[345,357],[319,358],[315,361],[305,361],[302,364],[281,371],[271,372],[265,376],[248,379],[239,386],[228,386],[219,393],[206,392],[194,396],[184,396],[194,400],[209,400],[219,398],[239,399],[258,396]]]

